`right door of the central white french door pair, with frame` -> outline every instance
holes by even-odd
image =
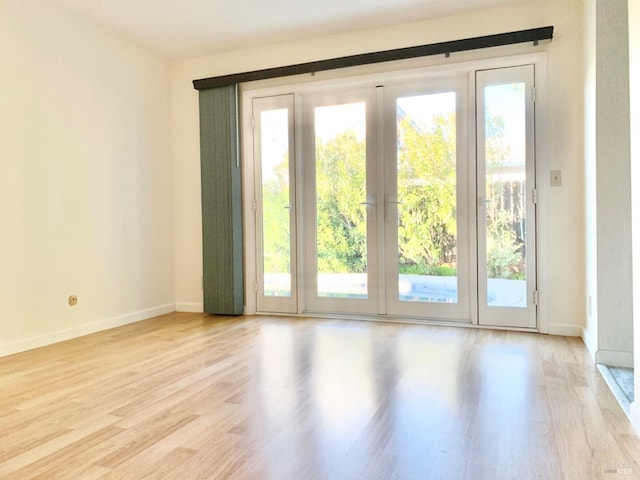
[[[386,308],[470,318],[465,77],[385,91]]]

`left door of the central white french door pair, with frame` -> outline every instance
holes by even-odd
[[[305,310],[376,314],[375,90],[302,102]]]

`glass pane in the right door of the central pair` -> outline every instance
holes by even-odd
[[[456,94],[398,98],[400,301],[458,302]]]

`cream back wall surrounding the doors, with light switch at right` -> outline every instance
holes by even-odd
[[[582,18],[576,15],[581,8],[580,0],[539,0],[433,21],[174,61],[172,155],[178,309],[202,307],[198,95],[191,84],[193,79],[554,25],[553,42],[542,47],[548,52],[548,129],[544,132],[546,170],[539,174],[539,187],[546,202],[541,231],[547,233],[542,239],[541,277],[545,288],[541,301],[551,333],[579,335],[586,303]],[[531,47],[519,48],[528,52]],[[450,61],[495,54],[495,51],[454,54]],[[562,170],[562,187],[548,188],[550,169]]]

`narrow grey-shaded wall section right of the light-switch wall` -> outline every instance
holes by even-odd
[[[596,2],[596,362],[633,363],[627,0]]]

